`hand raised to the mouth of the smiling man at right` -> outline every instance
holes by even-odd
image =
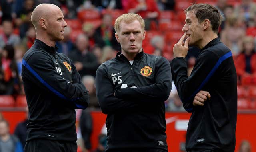
[[[183,57],[183,58],[185,58],[186,55],[188,54],[189,38],[187,38],[186,41],[183,42],[185,37],[186,37],[186,33],[183,34],[183,36],[180,38],[178,43],[174,44],[174,47],[173,47],[174,57]]]

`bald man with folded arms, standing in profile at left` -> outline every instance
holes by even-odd
[[[67,23],[53,4],[38,5],[31,21],[36,39],[22,61],[29,109],[25,152],[76,152],[75,109],[86,109],[89,97],[72,60],[56,52]]]

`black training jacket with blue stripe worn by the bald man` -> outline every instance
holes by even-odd
[[[88,91],[72,61],[57,47],[36,39],[22,61],[29,109],[27,141],[34,138],[76,141],[74,109],[88,106]]]

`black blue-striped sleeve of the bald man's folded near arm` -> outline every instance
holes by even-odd
[[[22,62],[23,67],[29,72],[24,72],[22,77],[26,77],[42,91],[47,90],[58,97],[74,101],[84,95],[86,88],[80,83],[72,84],[68,80],[64,80],[58,72],[50,56],[43,52],[33,53],[30,58]]]

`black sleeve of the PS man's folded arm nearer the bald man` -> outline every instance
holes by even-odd
[[[106,70],[98,68],[96,72],[96,96],[104,114],[124,112],[138,107],[138,103],[118,99],[114,96],[114,87],[108,79]]]

